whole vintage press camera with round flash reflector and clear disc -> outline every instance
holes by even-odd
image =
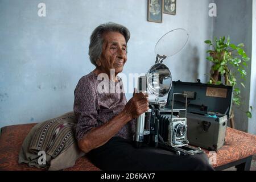
[[[170,39],[170,36],[177,36],[177,34],[185,34],[188,39],[187,31],[176,29],[164,35],[158,41],[155,50],[159,48],[159,45],[161,47],[167,43],[164,37],[167,36]],[[184,47],[186,43],[187,40],[183,44],[179,43],[179,46],[172,49],[172,51],[180,50],[180,45]],[[163,47],[166,47],[166,45]],[[149,93],[150,109],[137,119],[134,137],[135,146],[139,148],[142,143],[147,143],[150,146],[165,148],[177,155],[193,155],[204,152],[200,148],[188,146],[187,94],[174,93],[172,98],[168,97],[172,86],[172,75],[170,69],[163,64],[166,57],[157,54],[155,64],[150,68],[147,75],[138,78],[139,92]],[[175,97],[184,98],[184,107],[175,108]],[[170,99],[172,99],[171,108],[166,108],[167,100]]]

